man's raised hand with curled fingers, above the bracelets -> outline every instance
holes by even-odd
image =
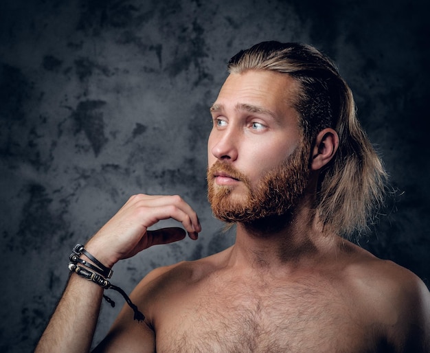
[[[185,238],[181,228],[148,231],[159,220],[173,218],[196,240],[201,226],[196,212],[180,196],[131,196],[125,205],[85,246],[102,264],[111,268],[148,247]]]

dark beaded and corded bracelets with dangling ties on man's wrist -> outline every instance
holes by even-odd
[[[122,295],[122,297],[124,297],[124,299],[125,299],[126,303],[128,304],[128,306],[130,306],[130,308],[133,309],[133,312],[135,314],[134,317],[133,317],[133,319],[135,319],[137,321],[144,321],[145,315],[143,315],[142,312],[139,311],[139,309],[137,308],[137,306],[135,306],[135,304],[133,304],[133,302],[131,301],[131,299],[122,290],[122,288],[120,288],[118,286],[114,286],[113,284],[111,284],[111,282],[109,282],[108,280],[106,280],[106,278],[104,278],[104,276],[100,275],[100,273],[93,273],[92,271],[90,271],[89,269],[93,269],[94,271],[97,271],[96,270],[97,267],[89,264],[85,260],[79,259],[78,257],[75,258],[74,256],[72,256],[72,255],[77,255],[77,253],[76,253],[75,250],[79,250],[81,253],[84,253],[84,255],[87,256],[89,259],[91,259],[91,261],[95,262],[95,264],[102,265],[97,259],[95,259],[93,257],[93,255],[91,255],[90,253],[88,253],[87,251],[85,251],[84,247],[81,244],[78,244],[78,245],[76,245],[76,247],[73,248],[73,253],[71,253],[69,255],[69,259],[72,261],[72,262],[69,262],[69,271],[76,273],[77,275],[79,275],[82,278],[85,278],[85,280],[89,280],[91,282],[94,282],[95,284],[98,284],[99,286],[101,286],[104,289],[113,289],[114,291],[117,291],[118,293],[120,293]],[[72,260],[72,258],[73,258],[73,260]],[[78,260],[82,260],[82,262],[78,261]],[[79,266],[78,264],[76,264],[76,262],[80,262],[84,266],[87,266],[89,269],[85,269],[84,267]],[[89,266],[89,265],[91,265],[91,266]],[[109,275],[112,275],[113,271],[111,269],[108,269],[105,266],[103,266],[103,267],[104,267],[104,269],[109,270]],[[99,269],[99,270],[100,271],[104,271],[102,269]],[[104,272],[106,272],[106,271],[104,271]],[[106,299],[106,301],[109,304],[111,304],[112,307],[115,306],[115,301],[113,301],[107,295],[103,295],[103,297],[104,297],[104,299]]]

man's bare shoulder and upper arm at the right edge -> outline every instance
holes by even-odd
[[[344,278],[375,330],[400,352],[430,352],[430,293],[403,266],[353,249]]]

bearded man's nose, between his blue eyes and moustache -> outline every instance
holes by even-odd
[[[223,161],[235,161],[238,158],[238,141],[232,129],[212,130],[208,147],[216,159]]]

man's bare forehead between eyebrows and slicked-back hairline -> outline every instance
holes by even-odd
[[[221,87],[212,111],[253,106],[275,115],[293,109],[298,84],[284,73],[246,71],[231,73]]]

